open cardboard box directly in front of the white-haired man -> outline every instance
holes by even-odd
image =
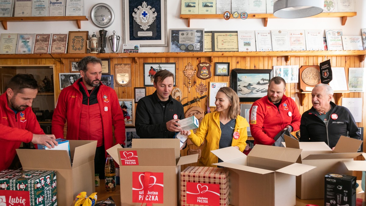
[[[296,177],[296,196],[300,199],[324,198],[324,176],[330,172],[352,175],[352,171],[366,171],[362,161],[354,161],[352,167],[344,161],[353,159],[362,153],[357,150],[361,140],[341,136],[334,150],[325,142],[299,142],[285,135],[285,146],[302,149],[298,163],[316,166],[317,168]]]

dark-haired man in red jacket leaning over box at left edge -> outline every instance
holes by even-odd
[[[57,146],[55,135],[45,135],[32,112],[37,80],[27,74],[13,76],[0,96],[0,171],[8,169],[22,142]],[[11,168],[13,169],[13,168]]]

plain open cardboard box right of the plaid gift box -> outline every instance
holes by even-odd
[[[211,151],[229,168],[229,203],[234,206],[294,206],[295,176],[314,166],[295,163],[301,149],[255,145],[248,156],[235,147]]]

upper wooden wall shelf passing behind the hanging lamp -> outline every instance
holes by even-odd
[[[320,13],[315,16],[310,16],[307,18],[330,18],[330,17],[340,17],[342,26],[346,24],[347,18],[356,16],[357,12],[333,12],[333,13]],[[224,19],[223,14],[181,14],[180,19],[188,20],[188,27],[191,25],[191,19]],[[235,19],[231,17],[229,20]],[[236,18],[240,19],[240,18]],[[273,14],[248,14],[247,19],[263,19],[263,25],[266,27],[268,19],[277,19]],[[240,19],[242,20],[242,19]]]

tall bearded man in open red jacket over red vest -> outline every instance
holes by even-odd
[[[52,118],[52,134],[64,137],[67,121],[67,139],[96,140],[94,170],[104,179],[104,165],[107,157],[105,150],[113,146],[115,140],[125,144],[125,123],[117,93],[101,83],[102,61],[86,56],[78,62],[81,78],[64,88],[57,100]]]

